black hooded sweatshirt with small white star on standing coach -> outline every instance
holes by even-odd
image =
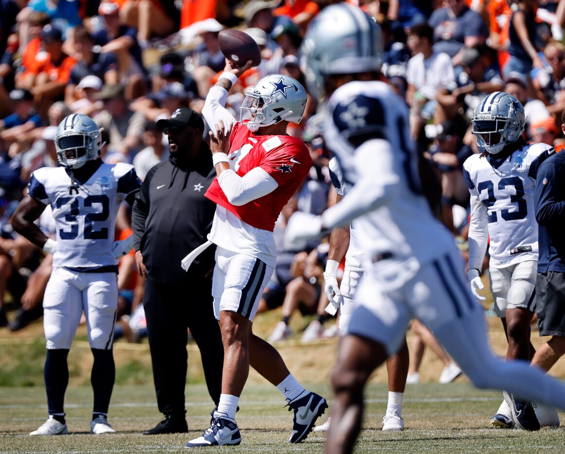
[[[194,260],[188,273],[180,263],[207,241],[216,204],[204,194],[215,177],[206,143],[186,165],[171,156],[147,173],[133,204],[132,226],[134,248],[141,250],[151,280],[177,282],[214,268],[214,245]]]

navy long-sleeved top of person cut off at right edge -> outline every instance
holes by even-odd
[[[565,273],[565,152],[540,165],[536,177],[539,273]]]

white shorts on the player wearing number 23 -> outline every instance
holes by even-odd
[[[506,317],[506,309],[536,310],[537,261],[526,260],[506,268],[489,267],[494,312]]]

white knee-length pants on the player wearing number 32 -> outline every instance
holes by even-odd
[[[48,349],[71,348],[84,311],[90,347],[110,350],[118,311],[118,276],[54,268],[43,307]]]

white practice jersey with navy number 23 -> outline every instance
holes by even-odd
[[[493,267],[537,260],[536,161],[551,150],[550,145],[536,143],[520,147],[504,160],[475,154],[464,162],[471,193],[470,268],[481,269],[488,237]]]

